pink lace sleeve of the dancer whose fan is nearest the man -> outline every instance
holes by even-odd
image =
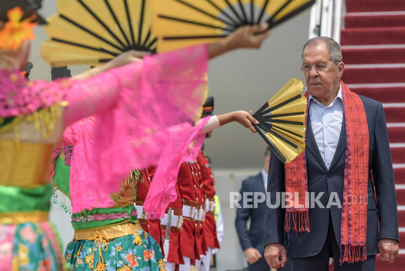
[[[210,116],[200,119],[195,127],[185,123],[169,130],[170,140],[162,151],[143,204],[147,218],[162,218],[169,203],[176,200],[175,185],[180,165],[197,159],[205,138],[200,132],[209,119]]]

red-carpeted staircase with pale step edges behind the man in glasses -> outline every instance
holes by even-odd
[[[343,81],[383,103],[397,204],[405,207],[405,0],[346,0],[341,31]],[[375,64],[375,65],[374,65]],[[391,104],[390,104],[391,103]],[[395,103],[395,104],[392,104]],[[400,251],[393,264],[376,255],[377,271],[405,271],[405,208],[398,212]],[[403,231],[404,229],[404,231]]]

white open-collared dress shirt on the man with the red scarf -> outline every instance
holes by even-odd
[[[343,113],[342,85],[340,85],[338,96],[327,107],[311,95],[309,96],[309,117],[312,131],[328,170],[338,146]]]

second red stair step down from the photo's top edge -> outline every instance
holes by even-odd
[[[393,26],[405,26],[405,12],[355,12],[344,17],[345,28]]]

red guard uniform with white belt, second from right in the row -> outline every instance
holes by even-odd
[[[206,246],[203,240],[205,204],[198,164],[194,161],[182,163],[178,180],[183,197],[183,227],[180,234],[182,253],[191,260],[200,260]]]

